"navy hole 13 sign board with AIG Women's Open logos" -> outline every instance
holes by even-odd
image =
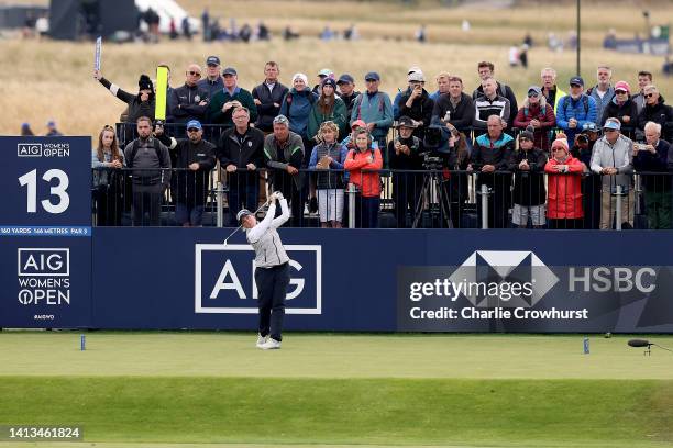
[[[0,324],[88,326],[91,138],[0,137]]]

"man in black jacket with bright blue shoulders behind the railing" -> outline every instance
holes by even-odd
[[[482,194],[478,191],[486,186],[490,192],[488,202],[488,228],[505,228],[509,209],[511,173],[508,171],[514,153],[514,138],[505,134],[506,122],[498,115],[487,119],[487,133],[475,139],[470,166],[477,171],[477,212],[482,221]]]

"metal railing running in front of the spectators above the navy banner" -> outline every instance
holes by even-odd
[[[290,204],[286,225],[293,227],[673,227],[671,172],[638,172],[619,183],[589,172],[526,179],[510,171],[379,170],[352,179],[345,171],[306,169],[297,176],[267,169],[92,171],[97,226],[236,226],[239,210],[257,210],[278,190]]]

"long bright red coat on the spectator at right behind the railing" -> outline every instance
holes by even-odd
[[[567,165],[569,172],[559,172],[556,165]],[[544,165],[549,175],[547,217],[550,220],[574,220],[584,216],[582,209],[582,163],[567,156],[564,163],[551,158]]]

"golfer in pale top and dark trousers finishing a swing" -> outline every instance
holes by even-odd
[[[280,203],[280,215],[276,215],[276,202]],[[261,222],[256,212],[241,210],[236,221],[241,224],[227,239],[239,229],[245,232],[245,239],[255,250],[255,284],[258,291],[260,328],[257,347],[262,349],[280,348],[283,340],[283,317],[285,315],[285,295],[289,285],[289,257],[285,253],[280,235],[276,231],[290,217],[287,200],[276,191],[271,194],[266,216]],[[262,205],[264,206],[264,205]],[[262,209],[262,208],[260,208]],[[258,210],[257,210],[258,211]],[[224,245],[227,245],[224,239]]]

